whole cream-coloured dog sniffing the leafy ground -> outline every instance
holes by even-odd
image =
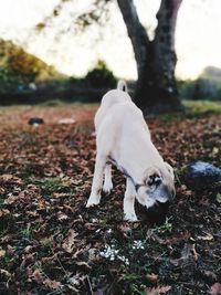
[[[126,177],[124,219],[137,221],[135,199],[149,209],[175,197],[172,167],[154,146],[141,110],[133,103],[125,82],[107,92],[95,115],[96,162],[86,207],[98,204],[102,188],[113,189],[112,165]],[[104,177],[104,183],[103,183]]]

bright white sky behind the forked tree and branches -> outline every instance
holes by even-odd
[[[98,30],[93,25],[82,35],[69,30],[77,11],[88,8],[91,1],[67,2],[61,18],[53,20],[53,27],[35,35],[33,27],[50,14],[59,0],[0,0],[0,38],[22,44],[69,75],[84,75],[102,59],[117,76],[135,78],[131,44],[116,4],[112,6],[105,28]],[[155,28],[159,0],[135,0],[135,3],[143,24]],[[208,65],[221,67],[220,13],[221,0],[183,0],[176,33],[178,77],[194,78]],[[57,29],[63,29],[59,38]]]

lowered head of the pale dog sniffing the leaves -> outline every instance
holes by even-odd
[[[175,198],[175,175],[168,162],[145,171],[144,185],[137,188],[137,200],[147,209],[155,203],[171,202]]]

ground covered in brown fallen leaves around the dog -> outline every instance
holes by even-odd
[[[137,206],[123,221],[124,177],[86,209],[96,106],[8,107],[0,113],[0,294],[220,294],[221,199],[177,177],[161,224]],[[45,124],[28,125],[31,116]],[[59,119],[76,123],[61,125]],[[220,165],[221,115],[149,118],[152,140],[177,172]],[[164,213],[164,212],[162,212]]]

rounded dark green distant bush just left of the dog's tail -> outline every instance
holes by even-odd
[[[95,69],[85,76],[85,82],[92,88],[114,88],[117,80],[103,61],[98,61]]]

